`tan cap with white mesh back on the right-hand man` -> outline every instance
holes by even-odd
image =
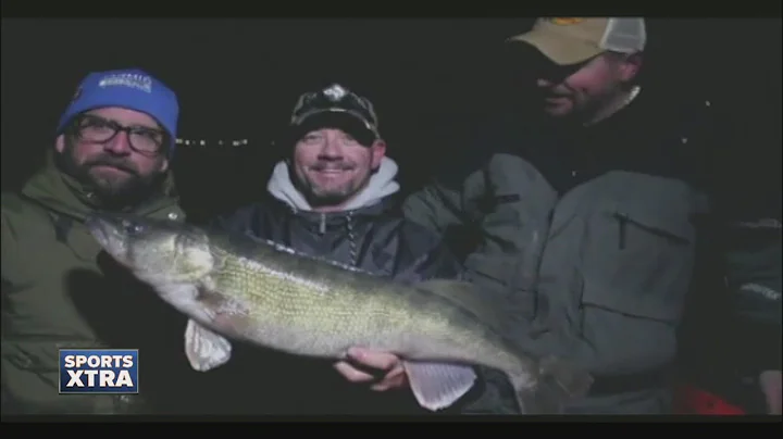
[[[638,17],[544,17],[533,28],[508,39],[538,49],[559,65],[579,64],[605,51],[644,50],[647,30]]]

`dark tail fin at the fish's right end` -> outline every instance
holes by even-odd
[[[587,393],[593,377],[563,360],[549,356],[538,363],[538,376],[509,374],[522,414],[561,414],[567,403]]]

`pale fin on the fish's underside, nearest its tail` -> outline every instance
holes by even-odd
[[[419,405],[433,412],[457,402],[476,380],[473,367],[459,364],[405,362],[405,368]]]

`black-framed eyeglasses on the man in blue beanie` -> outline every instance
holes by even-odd
[[[77,117],[73,125],[79,139],[105,143],[121,131],[127,133],[130,149],[144,154],[157,154],[163,149],[167,135],[161,129],[146,126],[122,126],[115,121],[86,114]]]

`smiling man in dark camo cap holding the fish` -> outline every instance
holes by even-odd
[[[461,267],[440,237],[402,217],[395,197],[398,166],[386,154],[369,99],[339,84],[301,95],[281,143],[285,158],[268,180],[268,196],[216,225],[400,281],[459,275]],[[214,382],[229,392],[219,399],[219,410],[427,413],[413,399],[393,355],[349,350],[348,360],[331,364],[252,351],[247,361],[258,359],[258,367],[238,361],[215,371],[221,375]],[[238,379],[237,386],[228,384],[232,379]],[[226,400],[236,405],[229,407]]]

